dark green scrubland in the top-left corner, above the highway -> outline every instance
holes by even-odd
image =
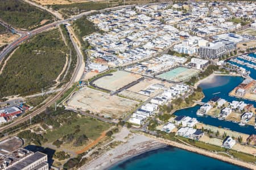
[[[0,18],[16,28],[32,29],[41,26],[42,20],[52,22],[52,16],[48,12],[39,10],[20,0],[1,0]]]

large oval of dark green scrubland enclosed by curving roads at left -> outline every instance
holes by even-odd
[[[20,45],[0,75],[0,97],[30,95],[55,84],[68,53],[58,29]]]

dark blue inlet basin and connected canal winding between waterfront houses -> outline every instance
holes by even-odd
[[[199,85],[199,87],[202,88],[204,92],[204,99],[202,102],[208,102],[210,99],[212,99],[214,96],[218,96],[221,99],[225,99],[226,101],[232,102],[234,100],[238,100],[237,97],[229,96],[229,92],[238,84],[240,84],[243,81],[243,78],[240,76],[214,76],[214,79],[212,82],[203,82]],[[213,95],[217,92],[220,92],[217,95]],[[253,104],[255,106],[254,101],[241,99],[246,104]],[[197,111],[200,109],[200,105],[196,105],[195,107],[181,109],[179,111],[176,111],[174,114],[176,116],[190,116],[190,117],[196,117],[199,122],[203,122],[204,124],[216,126],[216,127],[222,127],[227,128],[233,131],[238,131],[240,133],[245,134],[254,134],[255,129],[254,126],[251,125],[245,125],[240,126],[238,121],[226,121],[224,118],[216,118],[211,117],[204,114],[202,116],[196,114]]]

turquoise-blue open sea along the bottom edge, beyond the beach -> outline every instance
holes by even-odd
[[[134,158],[114,165],[110,170],[158,170],[158,169],[197,169],[197,170],[237,170],[244,169],[233,164],[225,163],[204,155],[181,150],[176,147],[164,147],[148,151]]]

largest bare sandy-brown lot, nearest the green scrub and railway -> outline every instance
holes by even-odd
[[[137,102],[110,96],[104,92],[84,88],[68,100],[68,105],[84,111],[99,113],[103,116],[119,118],[132,111]]]

